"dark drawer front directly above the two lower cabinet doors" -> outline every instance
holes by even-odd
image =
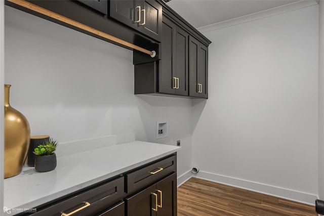
[[[177,155],[157,161],[139,170],[126,174],[127,193],[142,189],[157,180],[177,171]]]

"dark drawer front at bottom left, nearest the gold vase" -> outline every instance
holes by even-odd
[[[98,215],[108,207],[122,200],[124,193],[124,177],[95,187],[69,199],[37,211],[34,216],[52,216],[73,213],[76,215]]]

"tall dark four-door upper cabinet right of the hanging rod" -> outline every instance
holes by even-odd
[[[208,47],[182,27],[163,15],[160,60],[135,64],[135,94],[208,98]]]

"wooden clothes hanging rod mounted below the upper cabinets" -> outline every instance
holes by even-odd
[[[104,37],[106,39],[112,40],[112,41],[114,41],[114,42],[116,42],[116,43],[118,43],[120,45],[129,47],[129,48],[132,48],[134,50],[138,50],[138,51],[140,51],[142,53],[146,53],[146,54],[150,55],[152,58],[155,57],[155,55],[156,55],[156,52],[155,51],[149,51],[149,50],[146,50],[144,48],[138,47],[138,46],[136,46],[134,44],[131,44],[130,42],[127,42],[125,40],[119,39],[119,38],[114,37],[114,36],[112,36],[110,34],[107,34],[105,32],[99,31],[99,30],[97,30],[95,28],[92,28],[92,27],[87,26],[85,24],[79,23],[79,22],[77,22],[75,20],[69,19],[69,18],[64,17],[62,15],[59,15],[59,14],[54,13],[52,11],[49,11],[49,10],[47,10],[45,8],[39,7],[39,6],[34,5],[32,3],[29,3],[29,2],[26,2],[25,0],[8,0],[8,1],[11,2],[11,3],[14,3],[16,5],[19,5],[21,7],[24,7],[24,8],[27,8],[29,10],[32,10],[34,12],[37,12],[39,14],[43,14],[45,16],[51,17],[53,19],[56,19],[58,21],[64,22],[66,24],[75,26],[77,28],[83,29],[83,30],[88,31],[90,33],[93,33],[93,34],[96,34],[98,36]]]

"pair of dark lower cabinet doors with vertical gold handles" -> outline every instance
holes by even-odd
[[[127,216],[177,215],[177,174],[126,199]]]

